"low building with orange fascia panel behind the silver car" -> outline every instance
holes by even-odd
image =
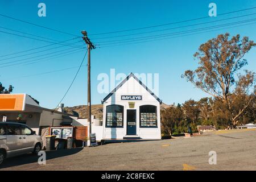
[[[0,122],[18,122],[41,134],[44,127],[72,125],[75,115],[67,114],[63,104],[57,110],[41,107],[28,94],[0,94]]]

